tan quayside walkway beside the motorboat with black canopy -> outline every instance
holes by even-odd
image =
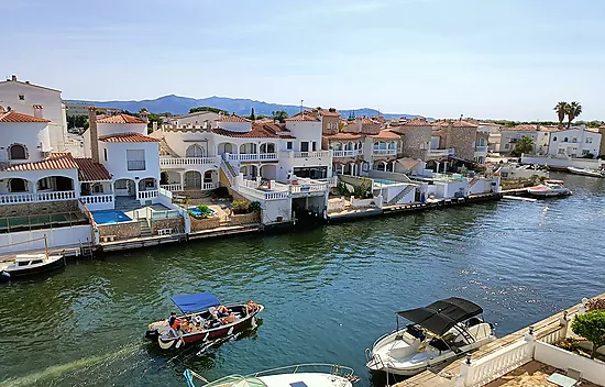
[[[595,296],[595,298],[605,298],[605,294]],[[536,339],[541,339],[553,331],[559,330],[560,321],[563,317],[563,313],[568,312],[568,319],[573,319],[581,303],[574,305],[573,307],[561,311],[557,314],[550,316],[541,321],[536,322],[531,327],[534,328],[534,333]],[[504,338],[497,339],[490,344],[486,344],[474,352],[471,352],[472,360],[476,361],[484,356],[487,356],[505,346],[508,346],[519,340],[522,340],[525,334],[529,331],[529,327],[522,328],[514,333],[510,333]],[[437,369],[427,369],[416,376],[410,377],[409,379],[403,380],[395,384],[395,387],[454,387],[455,375],[460,373],[460,363],[463,356],[457,357],[452,363],[439,367]]]

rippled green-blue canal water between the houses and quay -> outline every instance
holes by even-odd
[[[559,176],[558,176],[559,177]],[[459,296],[505,335],[605,287],[605,179],[574,196],[501,201],[311,231],[133,251],[0,286],[0,386],[185,386],[308,362],[349,365],[397,310]],[[254,331],[198,355],[143,335],[170,295],[265,305]]]

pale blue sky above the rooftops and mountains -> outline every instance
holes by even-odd
[[[2,4],[0,75],[65,99],[224,96],[453,118],[605,120],[605,1]]]

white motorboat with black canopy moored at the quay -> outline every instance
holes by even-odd
[[[366,367],[411,376],[451,362],[496,340],[493,325],[483,321],[482,313],[480,306],[458,297],[397,312],[411,324],[397,327],[393,333],[378,339],[372,350],[367,349]]]

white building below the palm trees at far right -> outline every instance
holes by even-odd
[[[559,157],[593,155],[594,158],[600,155],[601,135],[597,129],[586,129],[583,125],[553,132],[550,135],[548,154]]]

